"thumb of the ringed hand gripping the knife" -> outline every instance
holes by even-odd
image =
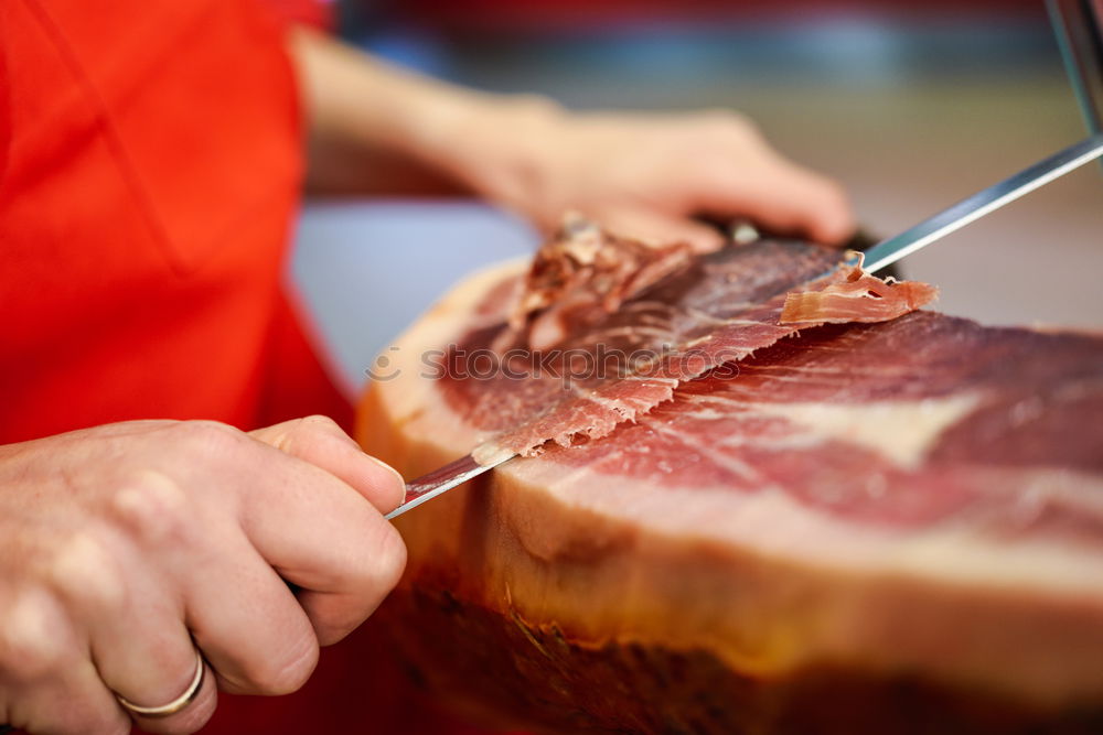
[[[394,510],[405,497],[406,483],[401,475],[364,454],[332,419],[321,415],[295,419],[258,429],[250,435],[339,477],[379,512]]]

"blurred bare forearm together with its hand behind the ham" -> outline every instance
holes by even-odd
[[[621,235],[719,247],[694,215],[750,219],[842,244],[835,182],[779,155],[746,118],[571,115],[539,97],[463,89],[389,67],[310,31],[291,34],[322,190],[471,192],[550,234],[570,209]]]

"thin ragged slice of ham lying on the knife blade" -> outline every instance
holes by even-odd
[[[600,439],[618,424],[635,421],[671,400],[679,385],[720,366],[730,369],[754,350],[801,328],[827,322],[884,322],[914,311],[936,295],[936,290],[924,283],[889,283],[864,273],[860,262],[829,270],[840,258],[840,253],[807,246],[786,250],[784,245],[758,242],[705,259],[697,271],[681,272],[655,293],[641,291],[623,304],[628,312],[632,312],[633,301],[677,303],[678,310],[667,317],[676,326],[660,331],[662,339],[635,345],[638,350],[650,350],[647,359],[628,363],[614,375],[583,378],[566,392],[553,393],[545,403],[533,406],[532,419],[481,443],[472,456],[490,465],[515,454],[532,456],[549,441],[569,446]],[[711,271],[718,266],[733,267],[740,278],[717,278]],[[786,267],[789,272],[781,270]],[[762,272],[756,273],[754,268]],[[595,293],[592,301],[601,296]],[[525,295],[522,303],[529,303]],[[615,344],[607,336],[624,331],[632,336],[633,331],[642,329],[638,323],[618,320],[599,326],[585,344],[572,346],[592,352],[597,344]],[[574,326],[576,332],[585,328],[592,325]]]

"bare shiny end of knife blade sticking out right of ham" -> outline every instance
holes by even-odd
[[[866,251],[863,268],[874,272],[895,263],[904,256],[961,229],[1008,202],[1014,202],[1024,194],[1029,194],[1039,186],[1043,186],[1101,155],[1103,155],[1103,133],[1070,145],[1063,151],[1024,169],[1014,176],[977,192],[911,229],[879,242]]]

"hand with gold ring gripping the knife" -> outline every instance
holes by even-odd
[[[191,733],[226,692],[282,694],[318,647],[364,620],[406,560],[382,512],[397,473],[332,421],[245,434],[142,421],[0,447],[0,723],[126,733],[115,693],[199,699],[154,733]]]

